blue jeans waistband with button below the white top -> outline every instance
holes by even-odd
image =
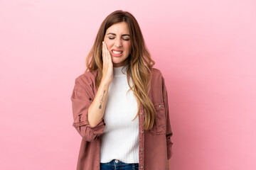
[[[113,159],[112,162],[100,163],[100,170],[139,170],[139,164],[126,164]]]

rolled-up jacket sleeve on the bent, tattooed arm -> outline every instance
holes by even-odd
[[[82,86],[82,85],[83,86]],[[87,142],[94,141],[98,136],[102,135],[105,128],[104,118],[100,120],[95,127],[89,125],[88,108],[92,103],[94,96],[90,82],[75,80],[75,86],[71,96],[73,109],[73,126]]]

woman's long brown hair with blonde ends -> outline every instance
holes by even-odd
[[[110,28],[115,23],[126,22],[130,35],[131,35],[131,53],[124,60],[124,64],[127,66],[127,82],[129,85],[129,90],[132,90],[134,96],[137,99],[138,111],[135,118],[137,118],[140,109],[140,103],[146,109],[145,119],[144,119],[144,129],[149,130],[154,125],[155,118],[155,108],[154,104],[150,100],[148,94],[150,90],[151,81],[151,70],[155,62],[151,59],[149,51],[146,49],[144,38],[142,35],[142,30],[139,28],[137,20],[132,16],[131,13],[127,11],[114,11],[110,13],[107,18],[102,22],[100,29],[95,38],[95,42],[92,45],[92,49],[86,58],[87,70],[90,72],[98,71],[96,78],[96,87],[100,86],[100,81],[102,79],[102,41],[104,40],[107,28]],[[132,86],[129,84],[129,79],[132,78]],[[135,119],[134,118],[134,119]]]

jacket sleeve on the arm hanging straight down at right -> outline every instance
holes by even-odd
[[[171,131],[171,123],[169,118],[169,103],[168,103],[168,94],[166,90],[166,85],[164,83],[164,77],[162,77],[162,83],[163,83],[163,96],[164,96],[164,107],[166,111],[166,145],[167,145],[167,159],[171,159],[172,156],[172,145],[173,142],[171,142],[171,136],[173,135],[173,132]]]

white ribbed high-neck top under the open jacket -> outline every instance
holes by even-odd
[[[127,164],[139,163],[139,117],[137,101],[129,90],[126,68],[114,67],[105,108],[105,129],[100,141],[100,162],[118,159]],[[132,86],[132,81],[130,79]]]

